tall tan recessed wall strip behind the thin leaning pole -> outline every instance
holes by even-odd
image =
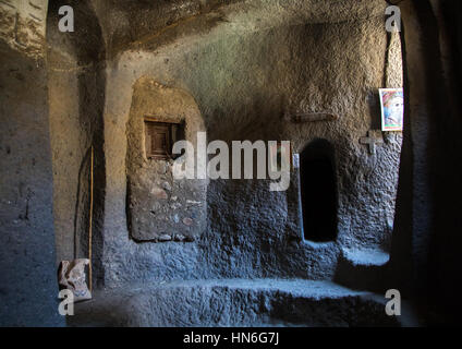
[[[48,103],[53,160],[53,216],[57,263],[88,256],[90,147],[94,146],[93,269],[102,280],[102,218],[106,188],[102,154],[105,43],[88,1],[74,9],[75,32],[58,28],[59,7],[49,9],[47,26]],[[96,282],[95,282],[96,285]]]

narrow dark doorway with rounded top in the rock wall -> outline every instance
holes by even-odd
[[[300,157],[303,236],[315,242],[337,238],[337,176],[335,149],[326,140],[315,140]]]

